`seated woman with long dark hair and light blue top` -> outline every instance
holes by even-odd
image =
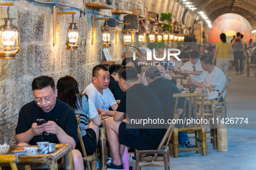
[[[87,155],[94,154],[97,148],[99,138],[99,126],[101,118],[98,114],[94,102],[86,94],[81,94],[78,90],[78,82],[72,76],[63,76],[57,82],[58,99],[68,104],[75,110],[75,114],[80,114],[81,123],[79,128],[84,141],[84,147]],[[87,114],[92,120],[88,124]],[[78,142],[76,149],[81,151],[81,145]]]

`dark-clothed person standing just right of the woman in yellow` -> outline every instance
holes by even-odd
[[[241,41],[241,34],[237,32],[237,38],[235,41],[231,43],[232,47],[234,47],[234,65],[237,71],[236,75],[243,74],[243,49],[244,49],[244,41]],[[239,65],[238,65],[239,60]]]

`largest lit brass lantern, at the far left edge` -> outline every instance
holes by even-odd
[[[0,27],[1,59],[14,59],[19,51],[19,31],[12,21],[8,14],[8,18],[4,18],[4,25]]]

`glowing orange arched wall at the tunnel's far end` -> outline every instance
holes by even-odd
[[[209,42],[220,41],[220,34],[225,33],[226,36],[233,37],[237,32],[243,34],[246,42],[253,38],[253,28],[250,23],[238,14],[227,13],[219,16],[212,23],[212,28],[209,31]]]

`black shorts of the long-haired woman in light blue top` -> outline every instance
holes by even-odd
[[[94,129],[88,128],[85,131],[86,131],[86,135],[82,136],[82,139],[84,142],[84,148],[85,148],[86,154],[91,155],[96,152],[97,137],[96,137],[96,133],[94,132]],[[81,151],[81,153],[82,153],[82,149],[81,149],[79,140],[78,140],[78,143],[76,144],[75,148],[78,149],[79,151]]]

